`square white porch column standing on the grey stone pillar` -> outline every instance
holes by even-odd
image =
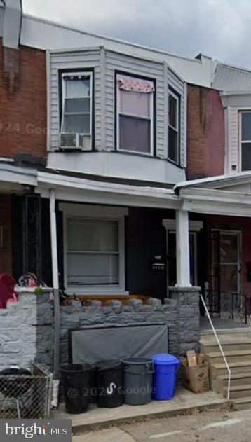
[[[186,210],[176,210],[176,287],[191,287],[189,256],[189,216]]]

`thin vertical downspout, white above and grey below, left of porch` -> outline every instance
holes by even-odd
[[[53,292],[54,292],[54,357],[53,374],[55,379],[59,379],[60,366],[60,296],[58,282],[58,262],[57,262],[57,221],[55,212],[55,191],[50,190],[50,241],[51,256],[53,265]]]

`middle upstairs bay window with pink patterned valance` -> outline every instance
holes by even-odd
[[[117,74],[117,149],[154,154],[154,81]]]

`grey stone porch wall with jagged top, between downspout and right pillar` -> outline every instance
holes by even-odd
[[[82,307],[79,301],[72,301],[61,307],[60,364],[68,362],[68,330],[82,326],[127,325],[127,324],[168,324],[169,352],[179,354],[179,312],[174,299],[165,300],[161,305],[158,299],[149,299],[146,305],[138,299],[131,299],[128,305],[121,301],[109,301],[102,307],[100,301],[90,301]]]

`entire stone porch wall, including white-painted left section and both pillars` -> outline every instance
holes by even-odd
[[[34,289],[18,289],[18,303],[0,309],[0,369],[18,364],[29,368],[36,359],[48,369],[53,368],[53,303],[50,289],[35,294]],[[169,352],[181,355],[197,349],[199,339],[199,289],[170,288],[170,298],[161,304],[151,298],[146,305],[130,299],[128,305],[109,301],[90,301],[82,307],[70,301],[60,307],[60,364],[68,362],[68,330],[82,326],[168,324]]]

